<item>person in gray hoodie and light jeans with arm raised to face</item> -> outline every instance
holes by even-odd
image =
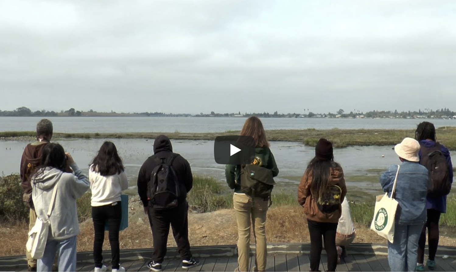
[[[74,173],[65,173],[70,165]],[[58,186],[55,187],[58,183]],[[32,175],[32,200],[36,215],[47,218],[52,205],[52,193],[57,189],[50,217],[50,230],[43,257],[37,262],[37,271],[52,271],[58,254],[58,271],[76,271],[76,236],[79,234],[76,200],[88,189],[90,183],[69,153],[60,144],[47,144],[43,149],[40,166]]]

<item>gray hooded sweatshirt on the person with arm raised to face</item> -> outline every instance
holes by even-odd
[[[88,190],[90,183],[76,163],[70,166],[74,174],[47,167],[43,173],[38,172],[32,179],[32,199],[36,215],[43,220],[47,218],[52,191],[58,182],[48,240],[65,240],[79,234],[76,199]]]

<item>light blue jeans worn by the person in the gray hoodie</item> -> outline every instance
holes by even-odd
[[[76,237],[66,240],[48,240],[43,258],[38,260],[36,271],[52,272],[52,264],[58,253],[58,271],[76,271]]]

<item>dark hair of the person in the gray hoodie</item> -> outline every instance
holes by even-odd
[[[46,167],[57,168],[65,172],[65,169],[67,168],[67,155],[60,144],[46,144],[43,148],[40,164],[33,175],[42,174]]]

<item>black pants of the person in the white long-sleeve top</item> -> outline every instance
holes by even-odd
[[[122,219],[122,205],[120,201],[113,204],[92,207],[92,221],[95,236],[93,238],[93,261],[95,267],[103,266],[104,225],[108,222],[109,244],[111,245],[112,268],[119,269],[120,246],[119,228]]]

